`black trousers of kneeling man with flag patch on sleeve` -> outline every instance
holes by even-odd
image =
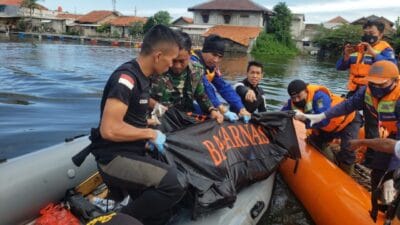
[[[123,213],[144,225],[160,225],[172,216],[171,208],[185,193],[175,167],[151,157],[119,155],[106,165],[98,164],[104,182],[112,189],[126,191],[131,201]]]

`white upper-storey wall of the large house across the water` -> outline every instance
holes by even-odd
[[[205,21],[204,17],[206,15],[208,15],[208,21]],[[201,24],[201,25],[229,24],[237,26],[254,26],[254,27],[264,27],[265,25],[263,13],[261,12],[225,12],[225,11],[193,12],[193,21],[194,24]]]

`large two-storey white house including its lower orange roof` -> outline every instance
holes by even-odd
[[[190,7],[193,24],[181,25],[194,46],[201,46],[205,36],[218,34],[227,41],[228,52],[248,52],[265,29],[272,11],[250,0],[211,0]]]

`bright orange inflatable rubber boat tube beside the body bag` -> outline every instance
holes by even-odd
[[[371,195],[314,147],[307,144],[304,124],[295,121],[301,159],[287,159],[279,168],[284,180],[316,224],[384,224],[371,219]],[[296,171],[295,171],[296,170]]]

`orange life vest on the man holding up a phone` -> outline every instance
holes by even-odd
[[[386,41],[379,41],[372,48],[376,54],[380,54],[383,50],[392,47]],[[349,89],[349,91],[355,91],[359,86],[364,86],[367,84],[365,77],[368,76],[371,65],[365,64],[363,59],[364,57],[372,58],[372,55],[365,54],[364,50],[360,48],[358,52],[351,54],[350,57],[357,57],[357,60],[355,64],[350,65],[347,89]]]

